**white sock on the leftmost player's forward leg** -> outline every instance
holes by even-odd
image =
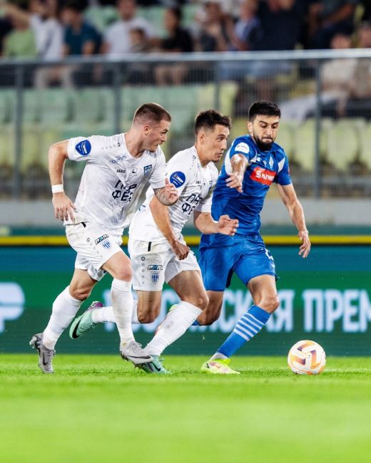
[[[131,329],[131,314],[133,313],[133,295],[131,281],[113,279],[111,286],[113,316],[115,318],[121,344],[134,340]]]

